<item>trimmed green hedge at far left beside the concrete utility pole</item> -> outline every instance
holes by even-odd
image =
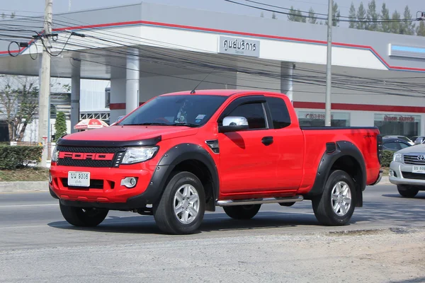
[[[15,169],[26,166],[28,161],[40,162],[42,146],[0,145],[0,169]]]

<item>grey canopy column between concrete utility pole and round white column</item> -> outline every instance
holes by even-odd
[[[80,79],[81,61],[72,59],[71,75],[71,132],[77,132],[74,126],[79,122],[79,100],[80,100]]]

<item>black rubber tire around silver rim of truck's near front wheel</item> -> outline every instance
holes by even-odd
[[[186,209],[183,209],[180,216],[174,213],[174,207],[176,206],[174,197],[178,190],[182,190],[184,185],[190,185],[191,190],[196,190],[196,193],[198,194],[198,213],[196,216],[193,216],[192,214],[192,216],[188,216],[188,219],[192,217],[189,223],[184,223],[182,222],[184,219],[180,219],[180,216],[183,218],[183,213],[191,213],[189,212],[190,207],[194,208],[188,200],[186,200],[185,204]],[[188,196],[186,195],[186,197]],[[189,234],[196,232],[203,221],[205,213],[205,191],[202,183],[200,183],[200,180],[196,177],[196,175],[190,172],[175,173],[175,175],[169,180],[169,183],[167,183],[161,199],[154,205],[153,211],[154,219],[157,222],[159,229],[165,233]]]

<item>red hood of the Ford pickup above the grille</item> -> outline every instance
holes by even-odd
[[[196,134],[198,128],[183,126],[111,126],[101,129],[89,129],[84,132],[68,134],[62,138],[62,142],[69,144],[69,141],[90,141],[90,144],[96,144],[96,141],[116,141],[115,144],[123,144],[125,141],[142,141],[145,139],[154,139],[161,136],[161,140],[174,139],[177,137],[186,137]],[[61,144],[61,142],[59,142]],[[81,144],[81,143],[79,143]],[[107,145],[108,143],[99,143]]]

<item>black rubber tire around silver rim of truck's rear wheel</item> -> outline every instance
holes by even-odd
[[[346,209],[345,214],[343,214],[343,210],[341,208],[345,207],[344,204],[341,203],[342,205],[340,204],[339,208],[335,206],[342,215],[337,214],[338,212],[334,211],[333,202],[340,202],[346,199],[339,200],[339,198],[337,198],[337,200],[332,200],[331,197],[332,190],[334,190],[334,187],[338,183],[345,183],[348,185],[348,190],[351,194],[351,203],[348,209]],[[354,185],[353,178],[344,171],[332,171],[324,185],[322,195],[312,200],[312,206],[314,215],[320,224],[327,226],[343,226],[348,224],[351,220],[351,216],[353,216],[354,207],[356,206],[356,187]]]

